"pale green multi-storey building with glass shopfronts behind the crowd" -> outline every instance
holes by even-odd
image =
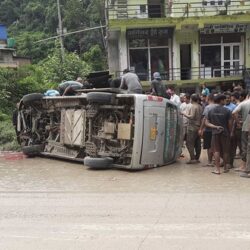
[[[108,0],[106,10],[116,76],[129,67],[145,86],[158,71],[179,88],[228,88],[250,68],[248,0]]]

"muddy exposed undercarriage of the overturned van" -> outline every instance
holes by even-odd
[[[131,163],[135,108],[133,97],[92,92],[72,97],[23,97],[18,137],[27,155],[45,154],[83,161],[86,156]]]

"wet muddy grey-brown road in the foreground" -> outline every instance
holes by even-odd
[[[250,249],[250,180],[184,161],[127,172],[0,158],[0,249]]]

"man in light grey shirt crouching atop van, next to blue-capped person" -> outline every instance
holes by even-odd
[[[138,76],[128,69],[123,71],[120,89],[127,89],[129,94],[142,94],[142,86]]]

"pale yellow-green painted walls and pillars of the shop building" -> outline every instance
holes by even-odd
[[[172,4],[167,4],[171,3]],[[188,4],[186,4],[188,2]],[[201,67],[200,65],[200,57],[201,57],[201,51],[200,51],[200,32],[203,31],[203,34],[221,34],[223,33],[232,33],[232,32],[238,32],[244,33],[243,39],[241,41],[241,58],[243,58],[244,66],[247,68],[250,68],[250,1],[237,1],[233,2],[231,1],[231,5],[228,7],[227,15],[222,14],[222,11],[225,11],[225,1],[223,1],[223,5],[219,6],[218,2],[219,0],[214,0],[216,2],[215,6],[211,6],[209,0],[207,0],[208,5],[203,6],[203,1],[197,1],[197,0],[190,0],[190,1],[182,1],[182,0],[165,0],[165,6],[166,6],[166,17],[162,18],[147,18],[147,14],[140,13],[140,5],[146,5],[148,4],[147,0],[127,0],[127,10],[125,7],[125,13],[127,11],[127,16],[121,16],[120,18],[116,13],[116,17],[118,17],[119,20],[112,20],[110,19],[110,27],[111,30],[119,30],[120,35],[116,38],[118,48],[116,45],[114,45],[114,41],[111,41],[110,43],[110,70],[113,71],[122,71],[123,69],[128,67],[129,64],[129,55],[128,55],[128,45],[127,45],[127,39],[126,39],[126,30],[127,29],[144,29],[144,28],[161,28],[161,27],[168,27],[174,29],[174,34],[171,42],[171,48],[170,50],[170,62],[169,62],[169,68],[180,70],[181,67],[181,59],[180,59],[180,45],[182,44],[190,44],[191,45],[191,72],[192,77],[191,80],[188,83],[191,82],[198,82],[198,81],[204,81],[204,80],[211,80],[213,82],[212,78],[224,78],[220,79],[221,81],[228,81],[230,80],[230,77],[228,75],[224,77],[224,73],[221,73],[220,76],[217,76],[215,74],[210,74],[210,76],[207,76],[207,73],[203,76],[201,76],[199,69]],[[117,4],[118,1],[115,2]],[[132,6],[133,5],[133,6]],[[172,6],[172,13],[171,13],[171,7]],[[124,6],[123,6],[124,7]],[[147,7],[146,7],[147,8]],[[178,8],[177,12],[173,12],[173,8]],[[121,8],[122,9],[122,8]],[[117,9],[116,9],[117,10]],[[208,10],[210,12],[208,12]],[[212,11],[211,11],[212,10]],[[213,12],[214,10],[214,12]],[[232,11],[233,10],[233,11]],[[246,10],[249,10],[247,12]],[[144,9],[145,11],[145,9]],[[148,9],[146,9],[146,12]],[[185,11],[189,11],[189,15]],[[139,14],[138,14],[139,13]],[[239,14],[240,15],[235,15]],[[246,13],[246,14],[244,14]],[[195,16],[195,17],[194,17]],[[179,18],[181,17],[181,18]],[[230,25],[232,24],[232,25]],[[247,32],[245,33],[245,28],[243,30],[240,30],[238,27],[234,27],[234,25],[244,26],[245,24],[248,24]],[[214,26],[226,26],[222,27],[224,30],[220,30],[220,27]],[[227,27],[228,26],[228,27]],[[233,27],[233,28],[232,28]],[[228,30],[229,31],[228,31]],[[231,29],[231,30],[230,30]],[[233,29],[233,31],[232,31]],[[237,29],[237,31],[234,31],[234,29]],[[210,33],[206,33],[208,32]],[[212,31],[211,31],[212,30]],[[116,51],[111,51],[111,49],[114,49]],[[221,47],[223,50],[223,47]],[[222,51],[221,50],[221,51]],[[202,50],[204,51],[204,50]],[[118,54],[119,57],[119,63],[117,63],[115,59],[116,55]],[[232,53],[231,53],[232,54]],[[204,52],[203,52],[204,55]],[[209,53],[211,57],[211,53]],[[221,52],[221,58],[222,58],[222,52]],[[207,57],[208,61],[212,62],[210,60],[210,57]],[[213,57],[216,58],[216,57]],[[225,58],[224,58],[225,59]],[[203,56],[204,61],[204,56]],[[218,69],[223,72],[223,65],[224,61],[222,61],[222,67]],[[213,63],[213,62],[212,62]],[[204,64],[205,65],[205,64]],[[216,67],[218,65],[208,65],[204,67],[204,72],[207,69],[207,67],[211,67],[211,72],[214,72],[214,69],[217,70]],[[119,68],[119,69],[118,69]],[[237,70],[236,70],[237,71]],[[238,71],[239,72],[239,71]],[[169,73],[171,75],[171,72]],[[238,73],[237,73],[238,74]],[[174,75],[174,73],[172,73]],[[189,74],[190,75],[190,74]],[[240,79],[240,75],[234,76],[231,75],[231,78],[235,78],[236,80]],[[200,79],[202,78],[202,79]],[[205,79],[206,78],[206,79]],[[188,80],[181,77],[182,80]],[[182,80],[180,80],[180,75],[177,76],[174,79],[171,79],[173,81],[176,81],[176,84],[182,84]],[[218,80],[218,79],[217,79]]]

